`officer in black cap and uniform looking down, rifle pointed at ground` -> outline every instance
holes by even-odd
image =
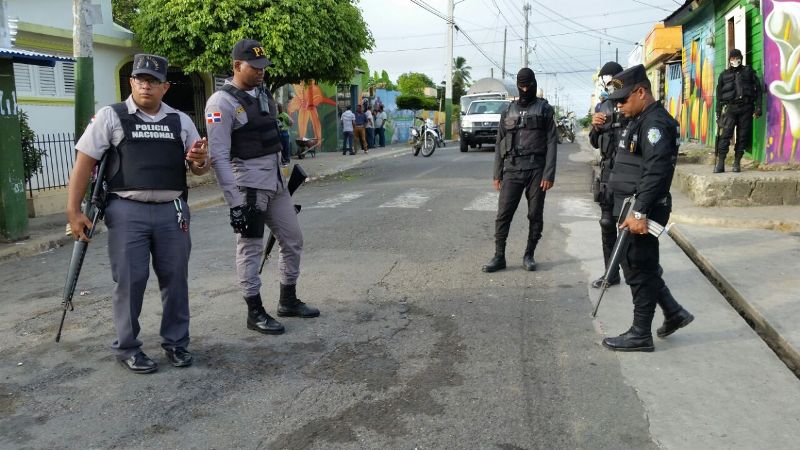
[[[631,232],[621,265],[633,295],[633,325],[620,336],[603,339],[603,345],[611,350],[651,352],[656,304],[665,318],[657,330],[659,337],[694,320],[661,278],[658,238],[647,232],[648,219],[665,225],[672,210],[669,188],[678,159],[679,125],[653,98],[641,64],[619,73],[611,83],[614,91],[609,99],[630,119],[614,156],[609,185],[615,193],[615,215],[622,207],[619,193],[636,194],[633,213],[620,225]]]

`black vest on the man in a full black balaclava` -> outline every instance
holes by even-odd
[[[547,155],[547,130],[552,114],[545,100],[537,99],[520,110],[519,103],[509,106],[503,118],[506,134],[512,140],[512,151],[506,157],[506,170],[530,170],[543,167]]]

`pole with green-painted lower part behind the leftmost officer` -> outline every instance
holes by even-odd
[[[75,138],[94,115],[92,25],[101,23],[91,0],[72,0],[72,55],[75,57]]]

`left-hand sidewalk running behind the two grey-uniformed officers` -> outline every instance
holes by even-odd
[[[355,156],[343,156],[339,152],[317,152],[315,158],[292,159],[292,165],[300,164],[308,174],[308,181],[325,178],[330,175],[352,169],[367,161],[380,158],[391,158],[411,151],[405,143],[387,145],[385,148],[375,148],[369,154],[358,153]],[[291,173],[291,167],[289,168]],[[213,171],[212,171],[213,172]],[[189,175],[191,186],[192,175]],[[205,184],[191,186],[189,189],[189,207],[197,210],[222,204],[224,199],[222,191],[217,186],[213,175],[204,177]],[[52,248],[62,247],[72,242],[72,236],[67,236],[66,215],[52,214],[34,217],[28,220],[29,238],[19,242],[0,243],[0,262],[15,258],[25,258]],[[105,231],[104,226],[97,229]]]

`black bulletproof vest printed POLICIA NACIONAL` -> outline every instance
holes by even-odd
[[[145,122],[128,113],[128,106],[111,108],[122,124],[122,141],[109,153],[109,167],[116,168],[109,191],[186,189],[186,161],[178,113],[168,113],[158,122]]]

